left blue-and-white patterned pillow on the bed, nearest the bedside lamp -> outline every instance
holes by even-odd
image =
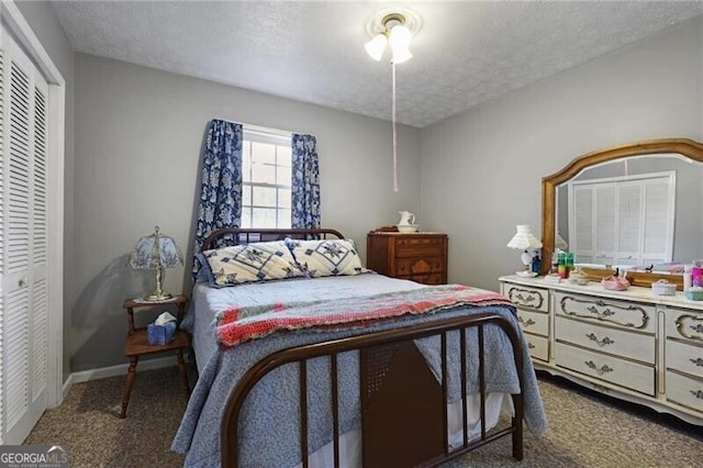
[[[201,258],[217,287],[305,276],[283,241],[205,250]]]

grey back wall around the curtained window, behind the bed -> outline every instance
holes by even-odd
[[[213,118],[315,135],[322,224],[354,238],[364,259],[367,232],[397,222],[399,210],[420,211],[416,129],[400,129],[393,192],[388,122],[76,54],[72,371],[124,361],[122,303],[154,287],[153,272],[126,265],[140,236],[158,224],[192,253],[198,164]],[[170,292],[187,283],[183,268],[165,277]]]

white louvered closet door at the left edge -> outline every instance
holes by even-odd
[[[47,408],[48,86],[7,34],[2,48],[0,411],[19,444]]]

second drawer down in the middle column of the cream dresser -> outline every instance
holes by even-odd
[[[595,352],[655,364],[657,346],[654,335],[556,316],[555,336],[561,342],[583,346]]]

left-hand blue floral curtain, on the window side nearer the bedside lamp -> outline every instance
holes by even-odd
[[[203,151],[194,253],[214,230],[242,219],[242,124],[213,120]],[[193,266],[197,270],[198,263]]]

